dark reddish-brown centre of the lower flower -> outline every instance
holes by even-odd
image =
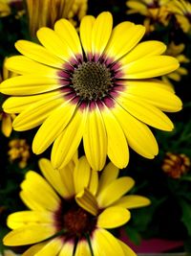
[[[96,227],[96,218],[75,202],[71,206],[63,216],[63,225],[68,235],[81,237],[84,233],[92,233]]]

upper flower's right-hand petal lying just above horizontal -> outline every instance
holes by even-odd
[[[149,79],[168,74],[179,67],[177,58],[170,56],[152,56],[140,58],[121,68],[123,79]]]

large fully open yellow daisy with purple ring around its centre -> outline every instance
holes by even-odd
[[[54,168],[69,163],[83,140],[94,170],[103,169],[107,155],[122,169],[129,161],[128,145],[147,158],[158,154],[146,125],[173,129],[162,111],[179,111],[180,99],[152,78],[176,70],[178,60],[160,56],[166,49],[162,42],[138,43],[143,26],[127,21],[112,30],[112,25],[110,12],[87,15],[79,39],[72,24],[61,19],[54,31],[37,32],[43,46],[19,40],[15,46],[24,56],[7,61],[22,76],[1,83],[0,91],[13,96],[4,111],[20,113],[15,130],[42,124],[32,151],[40,154],[53,144]]]

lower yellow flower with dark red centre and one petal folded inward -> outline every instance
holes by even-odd
[[[8,217],[12,230],[5,245],[33,244],[23,256],[91,256],[89,240],[95,256],[136,255],[106,230],[129,221],[128,209],[150,204],[148,198],[124,196],[134,179],[117,178],[118,169],[111,162],[98,177],[85,156],[75,155],[59,171],[46,158],[39,166],[46,179],[33,171],[26,175],[20,197],[31,210]]]

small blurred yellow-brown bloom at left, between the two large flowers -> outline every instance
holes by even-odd
[[[11,148],[8,151],[10,161],[13,162],[15,160],[18,161],[18,165],[20,168],[25,168],[27,166],[27,162],[31,156],[30,146],[26,142],[25,139],[12,139],[9,143],[9,147]]]

